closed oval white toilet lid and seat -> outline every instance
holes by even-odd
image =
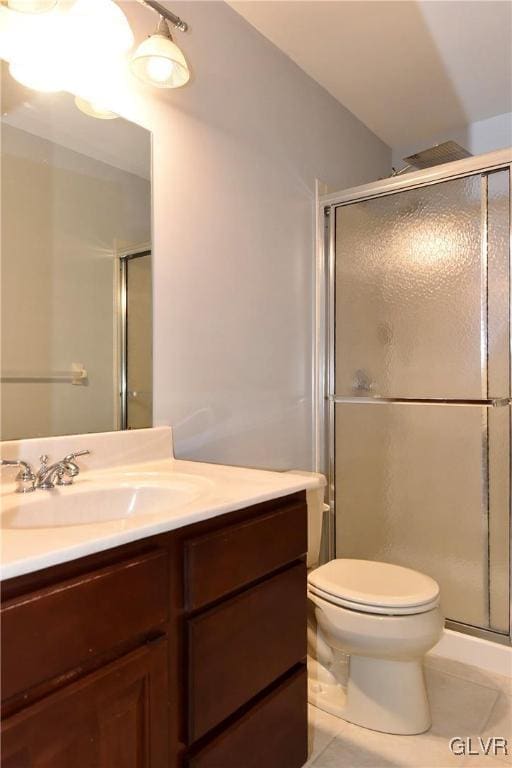
[[[371,560],[331,560],[308,576],[319,596],[354,610],[415,613],[435,607],[439,585],[430,576],[400,565]]]

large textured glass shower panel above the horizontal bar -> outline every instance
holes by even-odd
[[[471,176],[337,208],[338,395],[486,396],[481,186]]]

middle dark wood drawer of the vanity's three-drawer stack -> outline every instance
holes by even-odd
[[[189,743],[306,655],[306,564],[187,622]]]

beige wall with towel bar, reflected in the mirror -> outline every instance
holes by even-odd
[[[89,375],[3,384],[3,439],[115,427],[113,251],[150,211],[147,180],[2,126],[2,370]]]

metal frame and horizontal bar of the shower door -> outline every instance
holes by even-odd
[[[380,179],[360,187],[353,187],[340,192],[321,195],[318,199],[317,217],[323,237],[319,238],[317,254],[317,281],[319,283],[317,295],[321,297],[323,307],[318,316],[323,315],[324,323],[318,322],[316,326],[315,343],[318,348],[324,345],[327,349],[325,361],[315,371],[316,381],[316,410],[318,421],[315,423],[315,429],[319,431],[321,437],[318,444],[323,450],[320,455],[316,455],[315,465],[317,471],[325,472],[327,475],[327,493],[328,493],[328,519],[327,519],[327,542],[329,559],[336,557],[335,550],[335,405],[337,403],[370,403],[370,404],[425,404],[440,405],[443,403],[450,405],[459,405],[461,407],[480,405],[486,408],[504,407],[510,405],[512,401],[508,398],[499,399],[480,399],[480,400],[427,400],[407,399],[407,398],[382,398],[370,396],[340,397],[335,393],[335,271],[336,271],[336,253],[335,253],[335,234],[336,234],[336,208],[350,205],[352,203],[370,200],[377,197],[386,197],[388,195],[399,194],[404,190],[416,189],[420,187],[439,184],[443,181],[463,178],[476,174],[492,173],[494,171],[508,170],[510,179],[509,201],[510,214],[509,222],[512,222],[512,148],[489,152],[478,157],[469,157],[465,160],[457,160],[452,163],[427,168],[422,171],[411,172],[399,177]],[[512,247],[512,242],[511,242]],[[510,273],[509,273],[510,279]],[[509,308],[509,318],[512,324],[512,305]],[[510,341],[510,355],[512,359],[512,335]],[[322,356],[316,356],[321,360]],[[509,444],[512,445],[512,424],[510,427]],[[324,454],[322,456],[322,453]],[[512,457],[511,457],[512,461]],[[512,471],[512,470],[511,470]],[[512,552],[512,510],[509,503],[509,553]],[[509,555],[510,558],[510,555]],[[510,577],[509,562],[509,632],[501,633],[497,630],[484,629],[469,624],[462,624],[456,621],[447,620],[446,626],[465,634],[475,637],[490,639],[498,643],[512,644],[512,583]]]

